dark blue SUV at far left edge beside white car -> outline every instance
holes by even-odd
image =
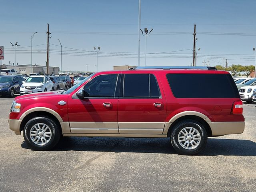
[[[0,95],[14,97],[14,94],[20,93],[20,86],[24,81],[25,79],[21,76],[0,76]]]

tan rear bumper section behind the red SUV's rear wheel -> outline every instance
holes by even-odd
[[[244,132],[245,122],[208,122],[212,136],[239,134]]]

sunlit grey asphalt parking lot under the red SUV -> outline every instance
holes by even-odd
[[[243,134],[209,138],[181,156],[169,138],[65,138],[32,151],[8,128],[13,98],[0,96],[0,191],[255,191],[256,104]]]

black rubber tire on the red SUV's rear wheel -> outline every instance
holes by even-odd
[[[186,149],[178,141],[178,135],[179,135],[180,131],[186,127],[192,127],[194,129],[196,129],[200,134],[201,140],[194,149],[192,148],[192,144],[186,144],[185,147],[186,146],[191,147],[191,149]],[[189,132],[188,132],[188,134],[189,134]],[[182,135],[184,135],[184,134],[182,134]],[[200,152],[206,146],[206,143],[208,140],[206,129],[204,128],[204,126],[202,124],[200,124],[199,122],[197,122],[195,120],[184,120],[182,122],[178,122],[172,129],[170,138],[171,138],[171,143],[172,143],[173,148],[178,152],[178,154],[183,154],[183,155],[194,155],[194,154]],[[192,140],[193,140],[193,138],[192,138]],[[191,140],[191,142],[192,142],[192,140]],[[196,139],[194,138],[194,140],[196,140]],[[185,142],[186,141],[184,141],[184,143]],[[189,142],[190,142],[190,140],[189,140]]]

